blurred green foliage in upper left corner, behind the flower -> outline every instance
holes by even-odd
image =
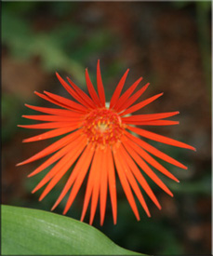
[[[113,34],[96,29],[87,32],[81,24],[60,21],[45,31],[35,31],[31,12],[39,10],[41,3],[3,3],[2,5],[2,43],[10,54],[19,60],[38,57],[47,72],[63,71],[72,73],[74,78],[85,85],[84,62],[92,55],[101,56],[104,47],[109,47]],[[48,12],[60,16],[64,10],[70,12],[74,3],[51,3]],[[58,8],[60,7],[60,8]],[[82,63],[82,64],[79,64]]]

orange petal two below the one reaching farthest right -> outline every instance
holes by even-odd
[[[142,148],[140,148],[140,146],[138,146],[135,142],[130,141],[130,140],[126,140],[126,142],[128,143],[128,145],[134,149],[140,156],[141,158],[143,158],[147,163],[149,163],[150,165],[152,165],[154,168],[158,169],[160,172],[162,172],[163,174],[165,174],[168,178],[179,182],[179,180],[173,175],[171,174],[166,168],[164,168],[161,164],[159,164],[151,155],[149,155],[147,152],[145,152],[145,150],[143,150]]]

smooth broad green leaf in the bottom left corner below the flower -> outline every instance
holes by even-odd
[[[96,228],[38,209],[2,206],[2,255],[141,255]]]

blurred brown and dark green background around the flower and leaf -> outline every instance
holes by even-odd
[[[2,202],[50,210],[65,178],[42,201],[31,194],[43,174],[27,179],[43,160],[16,168],[50,141],[22,144],[40,131],[18,128],[33,115],[24,103],[52,106],[33,94],[48,90],[69,97],[55,76],[69,75],[86,89],[85,68],[96,81],[100,66],[107,99],[130,68],[129,87],[141,75],[151,87],[141,99],[164,96],[140,113],[180,111],[175,127],[149,128],[196,147],[191,152],[153,143],[188,166],[166,168],[180,183],[160,176],[174,192],[166,195],[148,179],[162,210],[147,198],[152,218],[140,209],[137,222],[117,183],[118,222],[110,201],[100,227],[118,245],[147,254],[210,254],[211,249],[211,4],[210,2],[2,2]],[[41,189],[42,190],[42,189]],[[79,219],[85,184],[68,216]],[[66,199],[55,212],[61,214]],[[88,221],[88,216],[86,222]]]

